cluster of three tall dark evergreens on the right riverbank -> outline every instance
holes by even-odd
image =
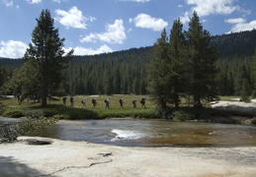
[[[210,32],[203,29],[196,12],[188,31],[184,33],[182,28],[180,20],[176,20],[169,42],[166,30],[162,31],[148,67],[150,93],[162,109],[172,103],[178,109],[185,95],[193,95],[196,108],[203,106],[202,100],[217,98],[214,65],[217,55],[210,45]]]

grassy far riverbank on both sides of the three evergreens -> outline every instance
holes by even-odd
[[[145,108],[139,103],[144,97]],[[66,106],[62,103],[62,97],[54,97],[49,100],[48,106],[43,108],[35,100],[25,100],[21,105],[18,104],[17,98],[1,97],[0,98],[0,115],[5,117],[56,117],[60,119],[104,119],[104,118],[157,118],[155,105],[148,95],[76,95],[74,96],[74,106],[70,106],[70,96],[67,96]],[[92,99],[97,99],[96,107],[93,107]],[[105,99],[110,99],[110,109],[105,108]],[[124,99],[124,108],[120,106],[119,100]],[[221,100],[231,100],[233,96],[220,97]],[[86,100],[86,107],[82,108],[82,100]],[[131,101],[136,100],[136,108],[133,108]],[[37,102],[37,101],[36,101]],[[173,112],[175,121],[186,121],[195,119],[209,119],[210,117],[229,117],[242,116],[254,117],[255,115],[237,111],[224,111],[206,107],[200,112],[195,111],[189,105],[181,105],[180,110]]]

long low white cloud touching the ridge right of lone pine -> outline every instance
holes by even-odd
[[[65,52],[70,51],[72,48],[65,48]],[[74,48],[74,55],[95,55],[100,53],[110,53],[113,50],[108,45],[103,45],[100,48],[92,49],[92,48],[84,48],[81,46],[77,46]]]

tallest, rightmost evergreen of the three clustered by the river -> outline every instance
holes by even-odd
[[[216,49],[210,45],[211,34],[203,29],[197,12],[194,12],[186,31],[189,45],[189,81],[188,93],[194,96],[194,107],[201,108],[202,99],[216,98],[214,66],[217,60]]]

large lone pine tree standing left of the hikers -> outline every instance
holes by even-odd
[[[28,82],[34,86],[33,88],[37,86],[34,90],[42,99],[42,106],[46,106],[48,94],[52,94],[59,87],[62,71],[66,68],[73,50],[63,56],[64,38],[59,38],[58,29],[54,29],[53,19],[48,10],[42,11],[37,22],[38,25],[33,30],[32,42],[29,44],[24,59],[26,65],[35,72],[29,72],[31,81]],[[28,89],[28,92],[31,91]]]

